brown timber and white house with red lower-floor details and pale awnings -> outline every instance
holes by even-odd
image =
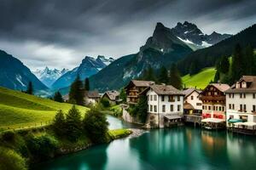
[[[225,122],[225,94],[228,84],[211,83],[201,94],[202,125],[206,128],[223,128]]]

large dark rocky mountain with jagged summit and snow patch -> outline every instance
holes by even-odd
[[[150,65],[157,70],[164,65],[170,67],[173,62],[182,60],[199,48],[206,48],[231,37],[229,34],[212,32],[202,33],[194,24],[185,21],[170,29],[157,23],[152,37],[137,54],[130,54],[116,59],[96,75],[90,77],[93,88],[100,91],[123,87],[133,78],[139,77]],[[206,45],[207,44],[207,45]],[[106,83],[108,82],[108,83]]]

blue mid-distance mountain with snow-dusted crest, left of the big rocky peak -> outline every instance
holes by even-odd
[[[98,71],[101,71],[102,68],[113,62],[113,60],[113,58],[107,59],[102,55],[99,55],[96,59],[86,56],[78,67],[74,68],[72,71],[67,71],[66,74],[59,77],[52,84],[51,88],[58,89],[68,87],[78,75],[81,79],[95,75]]]

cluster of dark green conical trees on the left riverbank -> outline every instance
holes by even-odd
[[[55,115],[52,127],[57,136],[70,141],[77,141],[83,134],[94,143],[104,143],[108,140],[107,117],[100,112],[99,105],[84,113],[83,119],[75,105],[67,115],[60,110]]]

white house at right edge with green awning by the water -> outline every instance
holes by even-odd
[[[256,134],[256,77],[241,77],[225,94],[227,127]]]

